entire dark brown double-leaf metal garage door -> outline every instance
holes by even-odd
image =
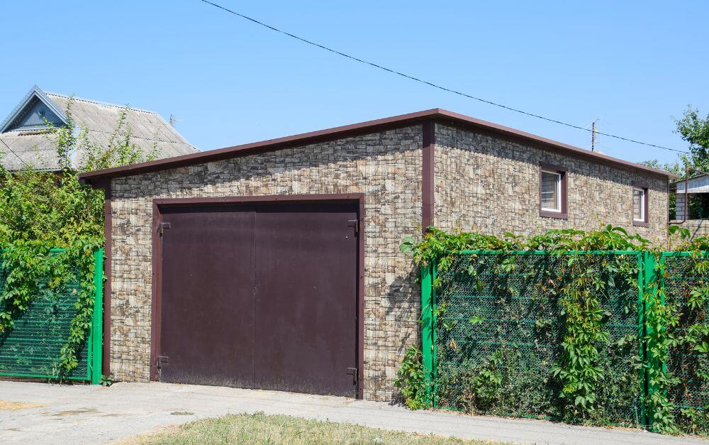
[[[356,394],[356,204],[161,210],[161,381]]]

